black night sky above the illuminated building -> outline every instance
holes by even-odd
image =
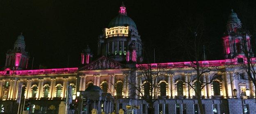
[[[203,15],[208,59],[224,59],[222,35],[231,8],[240,15],[236,0],[123,0],[146,48],[155,48],[158,62],[183,61],[175,55],[171,42],[173,31],[183,27],[180,20],[194,14]],[[186,1],[186,2],[185,2]],[[190,2],[187,2],[190,1]],[[208,2],[211,1],[211,2]],[[246,0],[237,0],[246,1]],[[253,0],[251,0],[253,1]],[[22,31],[30,68],[39,64],[47,68],[77,67],[80,53],[89,44],[96,55],[97,37],[108,22],[118,15],[121,0],[1,0],[0,1],[0,68],[5,53]],[[246,1],[249,8],[255,3]],[[242,4],[243,5],[243,4]],[[183,16],[181,16],[183,15]],[[255,21],[255,19],[254,19]],[[172,51],[172,52],[170,52]]]

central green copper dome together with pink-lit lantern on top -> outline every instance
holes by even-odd
[[[127,16],[126,7],[124,6],[124,4],[122,4],[119,9],[119,15],[112,19],[108,24],[109,28],[116,26],[134,26],[137,29],[135,22]]]

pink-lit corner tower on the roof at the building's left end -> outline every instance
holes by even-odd
[[[6,53],[5,68],[13,70],[27,69],[29,56],[25,51],[25,46],[24,36],[21,33],[14,42],[14,49],[8,50]]]

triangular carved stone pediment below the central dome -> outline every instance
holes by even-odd
[[[105,70],[105,69],[123,69],[123,68],[128,68],[128,67],[110,58],[102,56],[99,59],[92,61],[90,64],[80,68],[80,70]]]

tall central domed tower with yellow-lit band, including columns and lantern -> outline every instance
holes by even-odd
[[[142,57],[142,42],[135,22],[127,16],[127,10],[122,3],[119,14],[113,18],[103,35],[98,37],[98,55],[107,56],[115,61],[126,61],[128,46],[135,45],[137,58]]]

